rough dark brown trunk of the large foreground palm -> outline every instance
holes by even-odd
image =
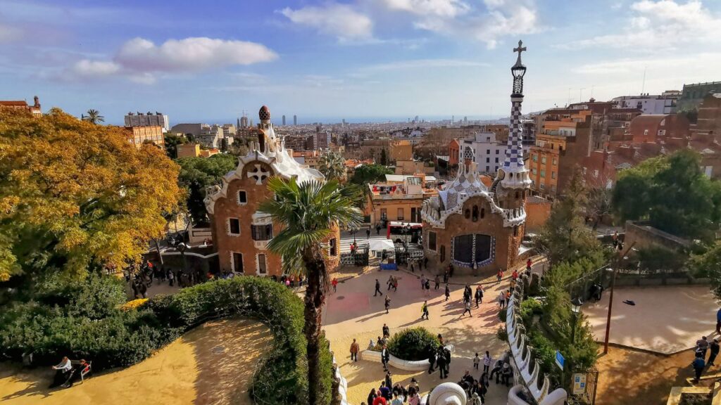
[[[306,267],[308,285],[306,285],[305,298],[305,326],[306,351],[308,355],[308,403],[310,405],[324,405],[319,402],[322,398],[320,385],[322,370],[320,368],[320,332],[323,303],[328,285],[328,274],[325,262],[319,249],[308,248],[303,252],[303,262]]]

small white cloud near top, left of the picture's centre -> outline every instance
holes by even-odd
[[[373,21],[346,4],[329,3],[325,6],[307,6],[293,10],[280,10],[297,25],[311,27],[324,35],[332,35],[340,41],[368,40],[373,37]]]

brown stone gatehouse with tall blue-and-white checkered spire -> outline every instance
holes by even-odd
[[[518,249],[526,222],[525,201],[531,179],[523,163],[523,75],[526,66],[518,60],[511,68],[510,133],[503,166],[490,187],[482,182],[474,162],[474,149],[464,146],[462,162],[453,182],[438,197],[423,203],[423,249],[429,268],[443,272],[449,265],[459,274],[487,275],[508,270],[518,262]]]

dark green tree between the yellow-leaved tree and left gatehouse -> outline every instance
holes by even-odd
[[[208,187],[221,184],[223,176],[238,166],[235,156],[218,153],[208,158],[180,158],[178,184],[185,187],[187,210],[196,225],[208,223],[205,210],[205,191]]]

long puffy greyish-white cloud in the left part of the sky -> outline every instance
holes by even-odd
[[[187,72],[273,61],[278,55],[259,43],[190,37],[158,46],[143,38],[126,42],[115,62],[133,71]]]

